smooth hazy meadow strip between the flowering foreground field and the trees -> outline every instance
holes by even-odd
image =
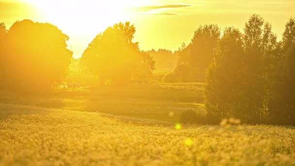
[[[2,92],[0,100],[5,103],[102,112],[170,122],[178,122],[180,113],[185,110],[204,113],[202,83],[105,86],[96,89],[60,88],[47,95],[35,96]]]

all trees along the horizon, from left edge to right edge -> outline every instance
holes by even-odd
[[[132,42],[134,33],[134,25],[120,22],[84,50],[82,61],[100,85],[149,83],[153,71],[170,68],[163,82],[205,83],[207,114],[199,115],[204,123],[237,117],[247,123],[295,124],[294,18],[280,41],[271,23],[256,14],[243,31],[202,25],[175,52],[140,50]],[[16,21],[9,30],[1,23],[1,88],[42,91],[61,82],[72,57],[68,38],[49,23]]]

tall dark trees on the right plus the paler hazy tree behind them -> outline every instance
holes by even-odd
[[[196,116],[199,123],[234,117],[243,123],[295,124],[294,18],[281,41],[256,14],[243,32],[227,27],[221,33],[216,24],[203,25],[179,52],[178,66],[164,81],[205,82],[207,114]]]

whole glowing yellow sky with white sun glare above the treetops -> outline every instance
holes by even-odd
[[[141,50],[177,50],[189,43],[196,28],[216,23],[241,30],[251,14],[260,14],[281,36],[295,17],[295,0],[0,0],[0,22],[49,22],[66,33],[74,57],[108,26],[131,21]]]

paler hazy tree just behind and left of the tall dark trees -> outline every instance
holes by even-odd
[[[191,43],[187,47],[184,43],[181,44],[178,50],[178,65],[186,64],[187,67],[192,68],[189,72],[181,74],[182,78],[186,78],[182,79],[182,82],[204,81],[205,70],[213,61],[213,54],[219,37],[220,28],[216,24],[204,25],[197,28]],[[177,67],[175,70],[177,70]]]

